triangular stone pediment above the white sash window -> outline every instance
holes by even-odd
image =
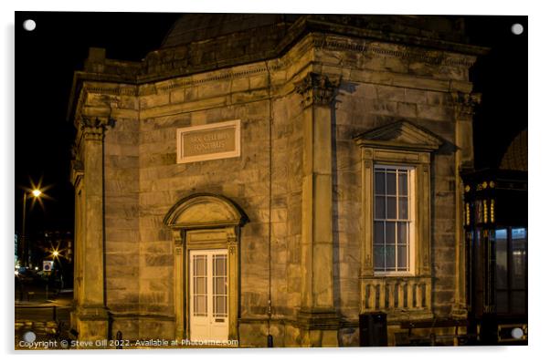
[[[362,147],[377,147],[405,150],[438,150],[443,140],[428,129],[408,121],[396,122],[369,129],[354,137],[355,142]]]

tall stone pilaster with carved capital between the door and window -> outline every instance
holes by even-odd
[[[337,345],[333,285],[333,101],[339,81],[309,73],[295,84],[301,95],[303,177],[301,207],[302,338]],[[324,336],[326,335],[326,336]],[[306,342],[308,344],[309,342]],[[319,342],[321,343],[321,342]],[[317,346],[317,342],[312,342]]]

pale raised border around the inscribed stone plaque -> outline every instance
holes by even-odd
[[[225,129],[235,128],[235,150],[227,152],[209,153],[200,156],[185,157],[184,152],[184,135],[185,133],[191,133],[196,131],[202,131],[207,129]],[[190,163],[201,160],[220,160],[230,159],[234,157],[240,157],[240,119],[227,120],[225,122],[210,123],[201,126],[185,127],[183,129],[176,129],[176,163]]]

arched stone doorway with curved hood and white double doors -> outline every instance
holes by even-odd
[[[239,234],[247,221],[235,202],[206,193],[164,217],[175,242],[176,337],[238,340]]]

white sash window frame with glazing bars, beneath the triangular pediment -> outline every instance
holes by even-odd
[[[417,174],[417,167],[410,165],[410,164],[391,164],[386,162],[375,162],[374,163],[374,171],[373,171],[373,180],[372,180],[372,201],[373,201],[373,222],[371,223],[371,227],[373,229],[372,233],[372,260],[373,260],[373,273],[375,276],[413,276],[415,275],[415,262],[416,262],[416,209],[417,209],[417,200],[416,200],[416,174]],[[407,170],[407,270],[397,270],[397,260],[398,260],[398,247],[397,247],[397,232],[396,232],[396,264],[394,269],[395,270],[375,270],[375,222],[386,222],[389,220],[390,222],[403,222],[403,219],[400,219],[398,217],[398,211],[396,211],[396,218],[395,219],[388,219],[387,218],[387,212],[386,212],[386,218],[384,219],[378,219],[375,215],[375,200],[376,200],[376,184],[375,184],[375,174],[377,170],[395,170],[395,171],[402,171]],[[398,176],[397,176],[398,180]],[[386,181],[386,187],[387,187],[387,181]],[[387,197],[387,190],[385,196]],[[396,182],[396,207],[398,210],[398,202],[399,200],[399,192],[398,192],[398,181]],[[387,203],[386,203],[387,207]],[[384,232],[386,233],[386,227],[384,228]],[[385,243],[386,244],[386,243]]]

